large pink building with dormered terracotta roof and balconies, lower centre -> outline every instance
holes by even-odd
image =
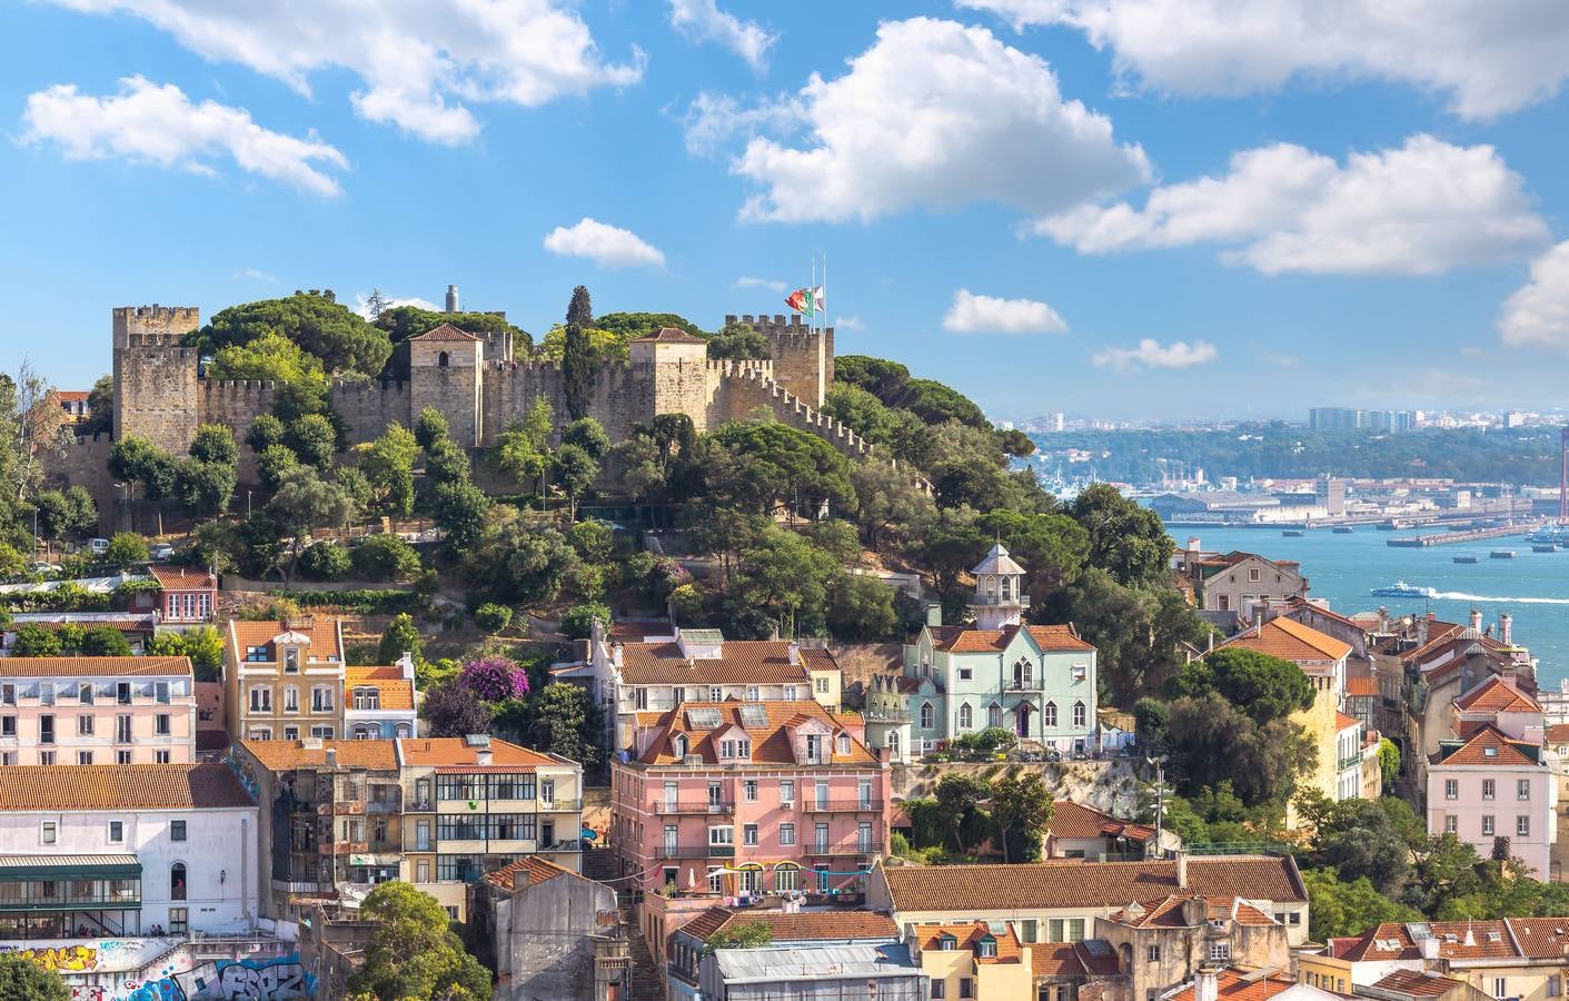
[[[816,701],[639,712],[610,786],[610,839],[640,877],[629,886],[846,890],[888,846],[886,756],[858,715]]]

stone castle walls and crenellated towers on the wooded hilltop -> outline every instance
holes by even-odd
[[[273,410],[275,383],[204,378],[196,348],[180,344],[201,326],[195,306],[122,306],[113,315],[116,436],[137,435],[184,453],[201,424],[226,424],[243,441],[251,422]],[[725,317],[737,320],[767,337],[766,361],[714,361],[701,337],[665,328],[632,340],[626,361],[595,372],[588,416],[621,441],[656,414],[686,414],[703,431],[761,411],[865,457],[869,446],[821,413],[833,388],[833,328],[813,329],[799,315]],[[560,366],[515,358],[505,333],[471,334],[442,323],[411,337],[408,351],[408,381],[333,383],[329,399],[351,444],[380,436],[388,424],[413,427],[427,406],[471,449],[494,446],[541,397],[557,428],[570,420]],[[242,479],[249,466],[242,461]]]

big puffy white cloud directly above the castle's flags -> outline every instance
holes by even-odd
[[[813,74],[799,105],[805,147],[759,135],[734,162],[764,188],[742,218],[868,221],[970,202],[1045,213],[1149,177],[1144,151],[1064,100],[1043,60],[951,20],[879,25],[844,75]]]

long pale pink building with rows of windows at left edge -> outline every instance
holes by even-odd
[[[188,657],[0,657],[0,763],[193,761]]]

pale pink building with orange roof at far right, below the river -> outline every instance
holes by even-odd
[[[1513,741],[1483,725],[1469,739],[1442,741],[1428,764],[1428,833],[1450,833],[1491,858],[1508,843],[1538,879],[1552,874],[1558,839],[1558,783],[1541,744]]]

